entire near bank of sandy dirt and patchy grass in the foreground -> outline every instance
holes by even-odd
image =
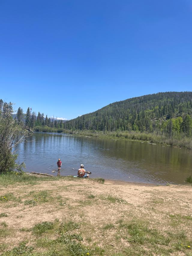
[[[96,181],[1,175],[1,255],[192,255],[191,185]]]

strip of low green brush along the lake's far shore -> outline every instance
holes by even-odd
[[[155,135],[150,133],[141,133],[136,131],[89,131],[89,130],[65,130],[61,128],[50,128],[47,126],[38,126],[35,127],[35,131],[43,132],[58,132],[58,133],[67,133],[67,134],[76,134],[82,136],[92,136],[98,138],[107,138],[107,139],[121,139],[121,140],[142,140],[149,141],[151,143],[160,143],[167,144],[171,146],[185,147],[187,149],[192,149],[192,139],[183,137],[183,138],[167,138],[163,135]]]

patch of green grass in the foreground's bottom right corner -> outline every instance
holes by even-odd
[[[184,231],[179,233],[172,233],[167,231],[166,234],[159,232],[155,228],[149,228],[149,223],[132,219],[131,221],[124,221],[119,219],[118,229],[116,229],[116,239],[125,239],[134,246],[125,249],[123,255],[169,255],[173,252],[190,251],[192,241],[187,240]],[[147,251],[143,251],[147,249]],[[179,253],[180,253],[179,252]],[[175,255],[175,254],[174,254]],[[187,254],[186,254],[187,255]]]

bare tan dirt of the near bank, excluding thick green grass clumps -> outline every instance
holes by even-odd
[[[0,252],[18,246],[26,237],[28,245],[36,246],[37,238],[30,229],[37,223],[57,219],[80,223],[77,232],[83,237],[82,244],[104,248],[105,252],[98,255],[192,255],[189,244],[192,237],[191,185],[157,186],[111,180],[101,184],[91,179],[61,179],[8,185],[0,189],[0,195],[7,198],[0,201],[0,213],[7,215],[0,218],[0,223],[2,228],[7,225],[8,230],[7,235],[1,236],[0,243],[4,246],[0,246]],[[137,237],[142,230],[147,235],[152,233],[150,230],[158,230],[162,236],[171,237],[171,244],[154,242],[158,247],[154,249],[149,242],[152,237],[143,244],[139,240],[132,241],[136,236],[130,233],[128,223],[139,223]],[[145,231],[146,226],[148,231]],[[183,237],[173,236],[179,232]],[[55,236],[45,235],[52,239]],[[189,250],[179,251],[175,243],[183,238]],[[174,249],[171,251],[171,248]],[[43,253],[42,248],[35,247],[35,250]]]

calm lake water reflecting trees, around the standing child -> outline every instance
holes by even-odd
[[[192,174],[192,150],[152,145],[138,141],[99,139],[57,133],[34,133],[18,146],[18,160],[26,171],[76,175],[80,164],[91,177],[131,182],[184,183]]]

